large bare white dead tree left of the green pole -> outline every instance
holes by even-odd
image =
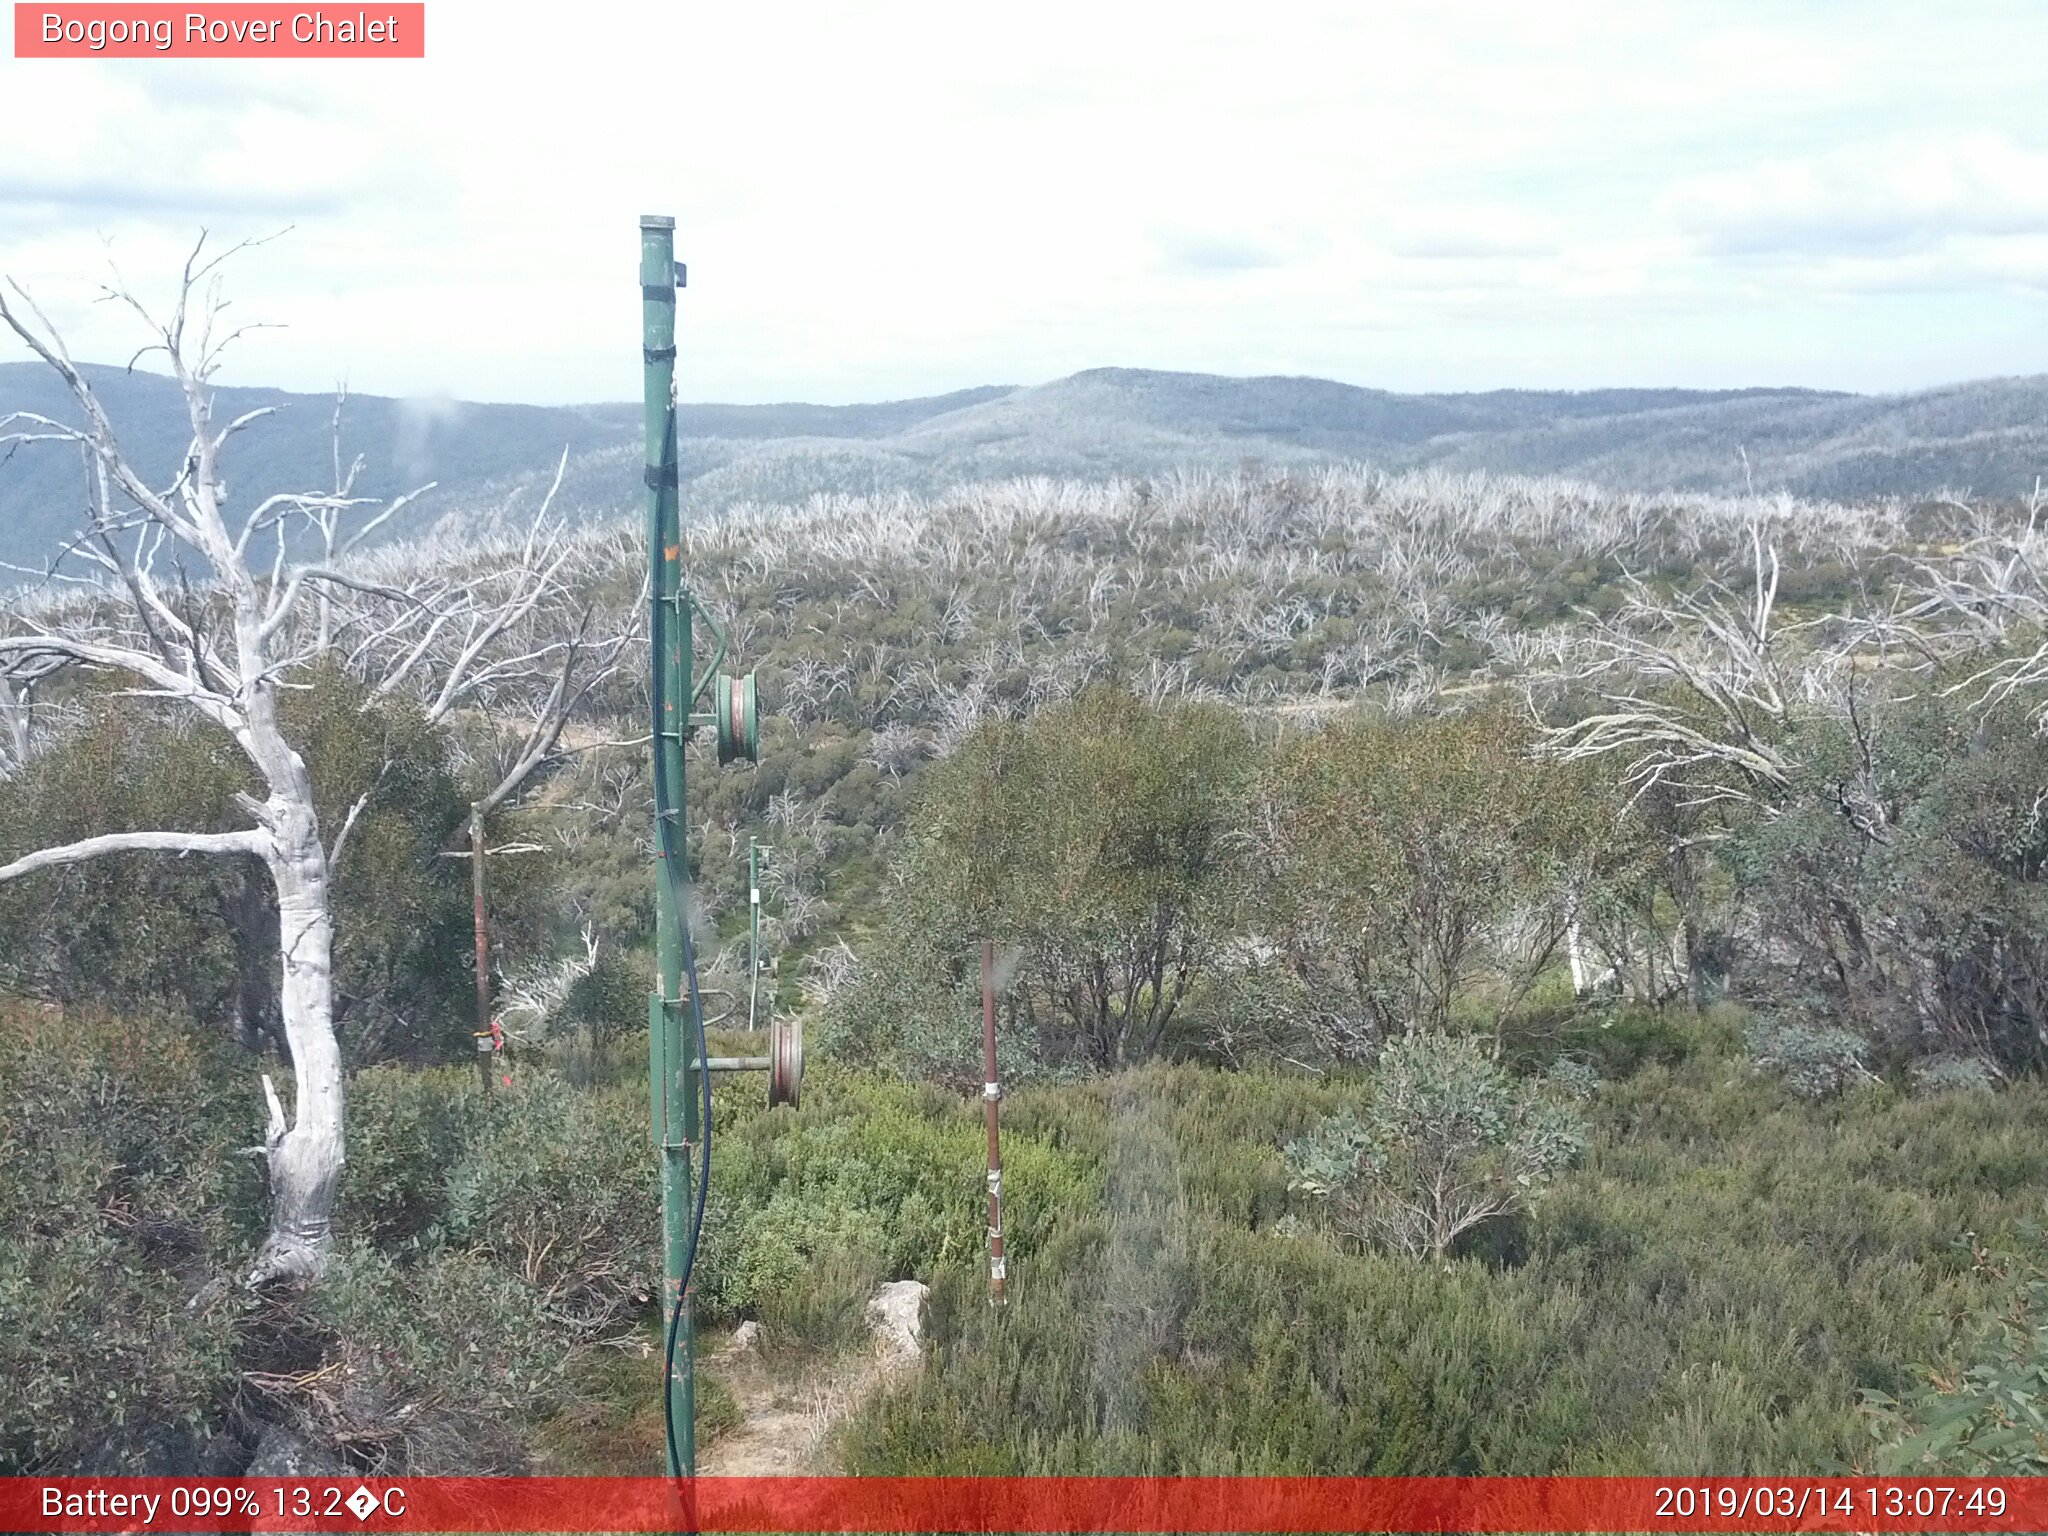
[[[250,242],[246,242],[250,244]],[[319,825],[307,764],[281,723],[281,692],[295,686],[334,639],[328,602],[348,594],[358,614],[379,612],[379,653],[393,655],[381,686],[401,686],[438,666],[438,700],[459,700],[502,668],[492,643],[492,608],[502,590],[530,612],[555,588],[551,541],[530,537],[504,561],[500,592],[487,582],[381,580],[375,567],[340,557],[369,528],[395,516],[412,496],[369,500],[336,479],[328,494],[276,494],[246,512],[229,512],[223,453],[236,434],[270,410],[215,420],[211,379],[223,350],[242,334],[223,326],[219,266],[242,246],[209,256],[205,236],[184,262],[176,299],[158,317],[119,276],[104,297],[147,328],[176,381],[190,442],[168,485],[152,485],[123,451],[92,383],[63,338],[12,281],[0,291],[0,322],[66,383],[78,422],[18,412],[0,420],[0,446],[68,442],[84,451],[88,518],[70,553],[96,567],[92,600],[37,616],[0,616],[0,678],[14,696],[53,670],[82,668],[127,680],[127,692],[156,707],[190,711],[225,731],[254,768],[262,795],[238,795],[248,827],[238,831],[123,831],[39,848],[0,864],[0,881],[125,852],[254,858],[270,877],[279,907],[283,985],[279,1012],[291,1053],[293,1104],[287,1114],[270,1077],[262,1077],[268,1130],[262,1145],[270,1176],[270,1231],[248,1274],[317,1276],[332,1253],[336,1182],[344,1161],[342,1059],[334,1030],[332,872],[348,834],[369,803],[365,793],[340,829]],[[131,362],[133,365],[133,362]],[[342,518],[356,518],[348,535]],[[313,537],[303,530],[311,524]],[[303,559],[307,543],[336,559]],[[186,580],[180,561],[203,567]],[[365,621],[367,623],[367,621]],[[436,653],[442,635],[461,633],[453,655]],[[498,672],[502,676],[502,672]],[[567,686],[567,684],[565,684]],[[453,707],[453,702],[449,705]],[[553,737],[549,737],[553,739]]]

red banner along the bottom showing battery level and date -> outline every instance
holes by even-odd
[[[14,1532],[2025,1532],[2048,1479],[0,1479]]]

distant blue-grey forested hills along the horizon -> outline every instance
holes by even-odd
[[[88,369],[137,461],[168,477],[186,440],[168,379]],[[324,489],[334,475],[334,401],[279,389],[223,389],[219,418],[276,416],[246,432],[229,489]],[[68,418],[39,362],[0,365],[0,414]],[[1034,387],[989,385],[870,406],[686,406],[686,502],[791,502],[815,492],[922,492],[971,479],[1106,479],[1364,459],[1589,479],[1616,489],[1790,489],[1802,496],[2017,496],[2048,465],[2048,375],[1909,395],[1810,389],[1595,389],[1397,395],[1327,379],[1223,379],[1092,369]],[[434,479],[412,524],[475,524],[530,508],[567,449],[561,508],[610,514],[637,500],[639,406],[485,406],[358,395],[346,453],[365,455],[358,492],[389,496]],[[0,467],[0,559],[55,551],[80,504],[76,457],[49,444]]]

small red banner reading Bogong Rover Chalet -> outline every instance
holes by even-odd
[[[424,59],[426,6],[14,2],[16,59]]]

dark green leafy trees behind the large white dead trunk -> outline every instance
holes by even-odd
[[[256,782],[211,725],[86,694],[74,729],[0,780],[0,860],[106,831],[248,825]],[[348,834],[334,879],[336,1018],[354,1059],[457,1053],[469,977],[467,870],[438,858],[465,813],[446,745],[410,700],[322,668],[283,700],[322,825]],[[518,932],[514,883],[496,893]],[[528,922],[530,926],[530,922]],[[244,1044],[279,1038],[276,905],[252,858],[117,854],[0,887],[0,977],[63,1001],[170,1006]]]

